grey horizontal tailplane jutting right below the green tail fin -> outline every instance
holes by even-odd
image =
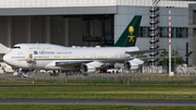
[[[136,54],[143,54],[143,53],[147,53],[147,52],[157,52],[157,51],[160,51],[160,50],[164,50],[164,49],[125,51],[125,53],[128,53],[128,54],[131,54],[133,57],[133,56],[136,56]]]

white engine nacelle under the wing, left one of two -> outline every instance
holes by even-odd
[[[96,72],[96,66],[90,65],[90,64],[84,64],[84,65],[82,65],[81,71],[83,73],[94,73],[94,72]]]

